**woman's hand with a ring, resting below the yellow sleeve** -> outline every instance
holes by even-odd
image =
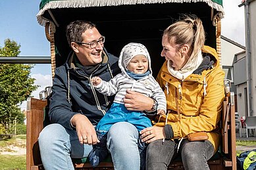
[[[145,142],[146,144],[165,138],[164,127],[159,126],[147,127],[140,131],[140,134],[141,141]]]

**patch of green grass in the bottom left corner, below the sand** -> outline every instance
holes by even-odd
[[[23,170],[26,169],[26,155],[11,156],[0,154],[1,170]]]

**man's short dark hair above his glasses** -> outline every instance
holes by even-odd
[[[82,33],[86,30],[96,28],[96,25],[85,20],[76,20],[70,22],[68,26],[66,26],[66,39],[68,40],[68,45],[71,42],[82,42]]]

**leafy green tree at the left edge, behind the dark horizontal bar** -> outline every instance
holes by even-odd
[[[0,47],[1,56],[18,56],[20,45],[10,39],[5,40],[5,46]],[[32,91],[38,88],[35,79],[30,76],[33,64],[0,64],[0,123],[8,128],[14,117],[22,112],[18,108]],[[24,117],[24,116],[23,116]]]

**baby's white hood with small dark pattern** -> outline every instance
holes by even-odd
[[[152,75],[152,70],[151,70],[151,59],[149,56],[149,52],[147,51],[147,48],[142,45],[141,43],[128,43],[128,45],[125,45],[122,48],[122,51],[120,53],[119,56],[119,60],[118,60],[118,66],[122,71],[122,74],[130,77],[127,73],[126,73],[126,67],[128,66],[130,60],[132,60],[132,58],[134,58],[134,56],[142,54],[147,58],[148,61],[148,70],[150,72],[150,75]]]

